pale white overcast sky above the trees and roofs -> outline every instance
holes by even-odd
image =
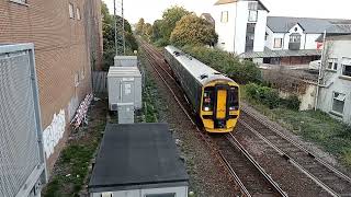
[[[103,0],[113,13],[113,0]],[[351,19],[351,0],[261,0],[269,15]],[[121,2],[121,0],[116,0]],[[140,18],[152,23],[163,10],[178,4],[201,14],[211,12],[216,0],[124,0],[125,18],[136,23]]]

